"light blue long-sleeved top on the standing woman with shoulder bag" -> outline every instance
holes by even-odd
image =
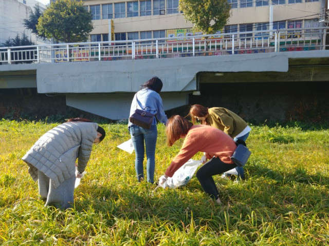
[[[165,110],[163,109],[162,105],[162,98],[160,97],[159,93],[151,90],[151,89],[142,89],[137,91],[134,99],[132,101],[132,106],[130,107],[130,114],[129,117],[135,112],[136,110],[136,95],[137,95],[137,109],[142,109],[144,111],[150,112],[155,114],[156,118],[162,123],[167,123],[167,115]],[[156,125],[156,118],[154,117],[152,125]],[[129,121],[128,127],[130,127],[132,122]]]

